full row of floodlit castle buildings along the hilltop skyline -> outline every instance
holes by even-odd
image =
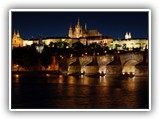
[[[23,47],[27,45],[32,45],[33,43],[38,43],[39,38],[37,39],[28,39],[24,40],[20,37],[19,31],[17,33],[14,31],[12,38],[12,48],[14,47]],[[87,24],[84,25],[84,29],[80,24],[80,20],[77,20],[77,24],[72,27],[69,26],[68,37],[47,37],[42,38],[42,42],[45,45],[50,45],[50,43],[56,42],[67,42],[69,47],[72,47],[73,43],[81,42],[84,45],[90,45],[92,43],[100,44],[101,46],[108,46],[110,49],[114,49],[118,45],[118,49],[122,50],[124,48],[148,48],[148,39],[131,37],[131,33],[127,32],[124,36],[124,39],[113,40],[111,36],[103,36],[98,30],[88,30]]]

